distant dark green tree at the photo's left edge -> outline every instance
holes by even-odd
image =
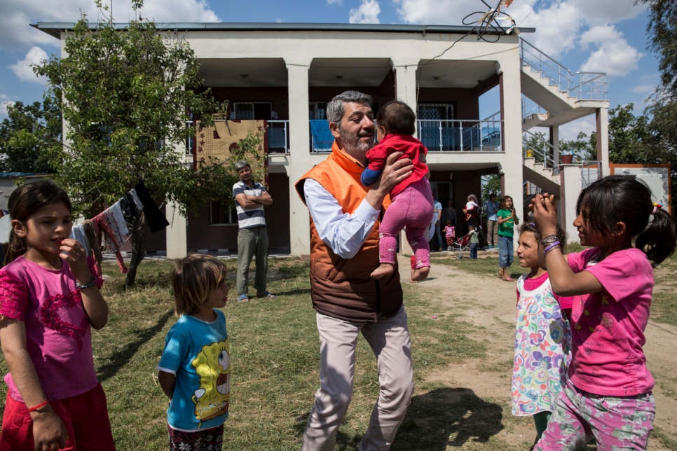
[[[61,110],[47,98],[42,103],[16,102],[0,124],[1,172],[51,172],[48,149],[61,145]]]

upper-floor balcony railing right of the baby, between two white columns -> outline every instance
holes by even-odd
[[[431,152],[500,152],[502,120],[418,120],[418,139]]]

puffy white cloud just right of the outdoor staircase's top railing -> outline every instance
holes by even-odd
[[[597,50],[590,54],[581,66],[584,72],[606,72],[609,76],[625,76],[637,69],[643,56],[623,38],[613,25],[600,25],[584,32],[582,46],[596,44]]]

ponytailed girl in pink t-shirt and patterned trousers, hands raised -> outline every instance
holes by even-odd
[[[592,433],[602,449],[645,450],[653,429],[654,380],[646,368],[644,329],[653,269],[676,247],[676,226],[635,176],[608,176],[581,191],[580,244],[562,256],[554,196],[536,195],[536,225],[554,293],[579,296],[571,309],[569,380],[535,450],[573,450]],[[634,246],[633,246],[634,243]]]

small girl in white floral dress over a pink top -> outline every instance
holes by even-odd
[[[556,233],[564,247],[566,234]],[[564,388],[571,359],[571,333],[562,312],[563,298],[550,289],[540,233],[533,223],[519,228],[517,258],[530,273],[517,281],[515,356],[512,366],[512,415],[533,415],[536,440],[545,431],[554,399]],[[570,303],[570,299],[568,300]]]

